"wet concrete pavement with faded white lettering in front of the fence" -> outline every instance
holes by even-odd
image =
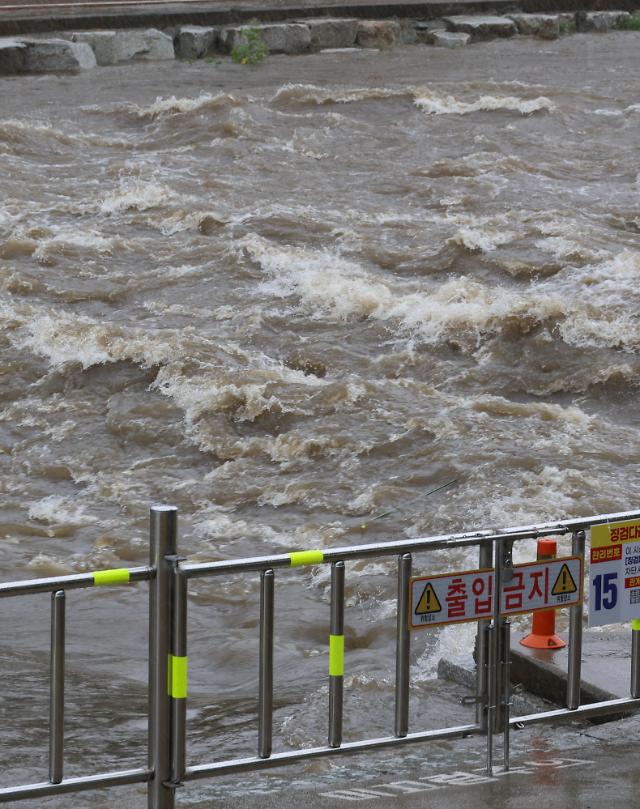
[[[497,753],[500,753],[500,739]],[[195,809],[596,809],[640,806],[640,718],[606,725],[527,728],[511,734],[511,767],[485,771],[482,738],[431,743],[402,756],[377,753],[278,776],[187,784],[178,805]],[[275,780],[273,780],[275,778]],[[204,792],[198,792],[204,789]]]

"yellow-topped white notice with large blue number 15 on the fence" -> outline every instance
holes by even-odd
[[[589,626],[640,618],[640,520],[591,528]]]

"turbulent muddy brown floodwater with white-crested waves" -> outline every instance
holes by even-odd
[[[2,578],[145,564],[153,502],[192,561],[637,507],[637,37],[1,80]],[[277,576],[276,749],[326,737],[328,576]],[[392,731],[394,588],[347,567],[349,739]],[[144,766],[144,589],[68,595],[70,775]],[[255,754],[258,601],[192,583],[191,763]],[[48,610],[2,603],[7,783]],[[415,729],[469,721],[468,626],[417,633]]]

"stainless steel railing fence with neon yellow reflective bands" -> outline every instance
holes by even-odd
[[[329,550],[297,551],[236,561],[190,564],[178,556],[177,509],[151,508],[148,567],[121,568],[0,584],[0,599],[50,593],[51,676],[49,778],[36,784],[0,789],[0,803],[65,793],[147,783],[149,809],[173,809],[176,788],[187,781],[278,767],[324,756],[358,753],[397,745],[484,734],[487,772],[493,771],[493,743],[503,733],[504,766],[509,767],[509,731],[514,726],[561,721],[640,708],[640,630],[632,630],[631,683],[628,699],[580,704],[582,605],[570,608],[566,707],[526,716],[510,716],[510,622],[500,615],[500,581],[508,576],[514,542],[545,536],[572,537],[572,553],[584,559],[585,531],[592,525],[640,518],[640,511],[597,515],[499,531],[448,534]],[[409,732],[409,582],[412,554],[446,548],[479,547],[479,567],[493,568],[494,611],[478,621],[476,722],[458,727]],[[343,742],[345,562],[381,556],[398,558],[395,722],[393,735]],[[329,621],[329,729],[322,747],[272,753],[273,641],[275,571],[305,565],[331,565]],[[191,578],[231,573],[260,574],[260,668],[257,755],[189,766],[186,756],[187,583]],[[136,769],[64,778],[65,592],[95,586],[148,581],[149,708],[148,762]]]

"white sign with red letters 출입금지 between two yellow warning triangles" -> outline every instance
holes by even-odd
[[[640,579],[640,567],[638,570]],[[415,577],[410,586],[411,629],[493,617],[491,569]],[[501,615],[572,607],[581,602],[582,560],[578,556],[514,565],[505,571]]]

